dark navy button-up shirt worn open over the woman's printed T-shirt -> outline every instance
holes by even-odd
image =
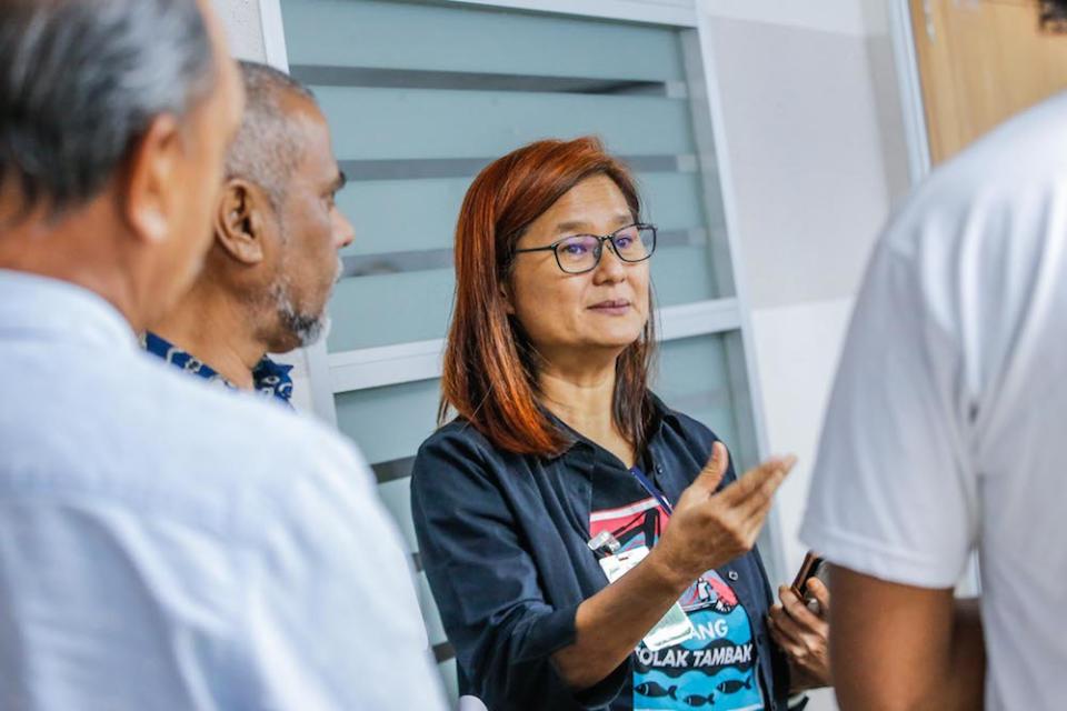
[[[618,458],[556,422],[574,438],[558,457],[502,451],[461,420],[422,444],[411,480],[422,565],[456,649],[460,693],[480,698],[491,711],[629,710],[634,654],[579,693],[551,661],[575,642],[578,605],[607,585],[587,545],[594,482],[631,475]],[[657,400],[645,462],[669,501],[700,472],[716,440]],[[731,467],[724,484],[734,479]],[[788,670],[768,637],[771,592],[759,553],[716,572],[730,581],[749,618],[751,683],[760,684],[767,708],[785,709]]]

